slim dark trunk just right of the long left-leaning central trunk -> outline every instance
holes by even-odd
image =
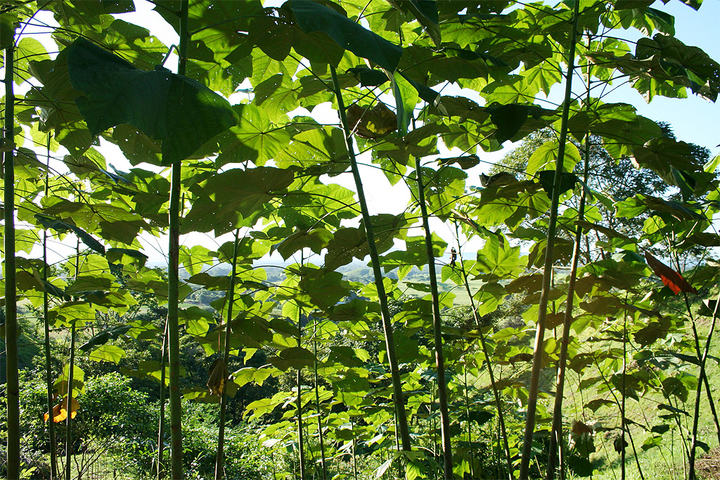
[[[433,341],[435,343],[435,367],[438,377],[438,407],[440,407],[440,435],[443,443],[443,468],[445,479],[452,479],[452,445],[450,441],[450,413],[448,409],[447,386],[445,381],[445,361],[443,358],[442,319],[440,317],[440,296],[438,295],[438,278],[435,271],[435,255],[433,239],[428,222],[428,207],[425,204],[425,186],[423,184],[423,168],[420,159],[415,159],[418,176],[418,203],[423,215],[425,230],[425,249],[428,256],[428,274],[430,275],[430,291],[433,297]]]

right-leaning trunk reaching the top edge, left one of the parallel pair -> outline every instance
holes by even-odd
[[[523,448],[520,463],[520,479],[528,479],[530,460],[532,456],[533,435],[535,433],[535,412],[538,402],[538,391],[540,384],[540,369],[542,363],[543,345],[545,340],[545,320],[547,318],[547,304],[550,295],[550,278],[552,276],[552,264],[554,263],[555,232],[557,231],[557,209],[560,196],[560,181],[562,178],[562,166],[565,157],[565,141],[567,140],[567,118],[570,114],[570,101],[572,99],[572,74],[575,71],[575,43],[577,42],[577,17],[579,17],[580,2],[575,2],[572,14],[572,30],[570,32],[570,50],[567,55],[567,75],[565,77],[565,96],[562,104],[562,120],[560,126],[559,147],[557,151],[557,163],[555,178],[552,186],[552,204],[550,207],[550,219],[547,233],[547,246],[545,250],[545,266],[543,270],[543,283],[540,294],[539,314],[537,329],[535,332],[535,345],[533,356],[533,368],[528,388],[528,409],[525,418],[525,434],[523,435]]]

